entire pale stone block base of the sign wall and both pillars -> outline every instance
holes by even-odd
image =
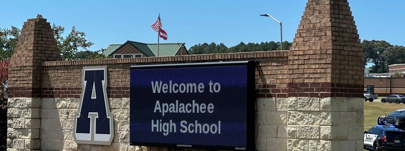
[[[78,101],[9,99],[8,150],[168,150],[129,145],[129,98],[110,99],[111,145],[76,144],[72,128]],[[363,150],[363,121],[362,98],[258,98],[256,149]]]

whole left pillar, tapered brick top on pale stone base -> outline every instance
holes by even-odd
[[[24,22],[9,66],[7,147],[41,149],[42,61],[61,60],[46,19]]]

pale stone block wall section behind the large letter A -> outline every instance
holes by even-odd
[[[110,98],[114,114],[111,145],[76,144],[73,139],[74,113],[78,98],[43,98],[41,108],[41,150],[134,150],[129,145],[129,98]]]

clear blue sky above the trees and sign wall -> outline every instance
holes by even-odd
[[[21,28],[28,18],[42,14],[48,22],[75,26],[95,44],[90,50],[127,40],[156,43],[151,29],[157,14],[169,35],[161,42],[224,43],[279,41],[279,25],[259,14],[271,14],[283,23],[283,40],[292,41],[306,1],[4,1],[0,28]],[[361,40],[386,40],[405,45],[405,1],[349,0]]]

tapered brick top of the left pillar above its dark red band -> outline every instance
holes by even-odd
[[[62,60],[50,23],[46,19],[28,19],[9,66],[10,87],[41,87],[41,62]],[[23,77],[23,78],[22,78]]]

